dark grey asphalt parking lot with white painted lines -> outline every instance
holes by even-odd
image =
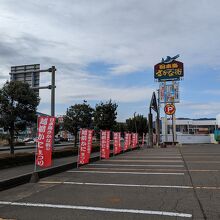
[[[0,219],[220,219],[220,146],[143,148],[0,192]]]

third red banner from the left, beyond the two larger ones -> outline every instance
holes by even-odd
[[[110,131],[100,132],[101,158],[109,159],[110,157]]]

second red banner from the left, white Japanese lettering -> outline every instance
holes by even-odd
[[[92,134],[93,134],[93,130],[88,130],[88,129],[80,130],[78,164],[89,163],[89,158],[92,149]]]

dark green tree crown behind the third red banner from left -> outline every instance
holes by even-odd
[[[96,105],[94,113],[94,125],[96,129],[113,129],[116,125],[117,107],[118,105],[111,100]]]

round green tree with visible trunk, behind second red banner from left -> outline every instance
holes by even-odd
[[[84,102],[70,106],[63,118],[64,129],[72,133],[75,137],[75,147],[77,144],[77,134],[80,128],[90,128],[92,126],[94,109]]]

